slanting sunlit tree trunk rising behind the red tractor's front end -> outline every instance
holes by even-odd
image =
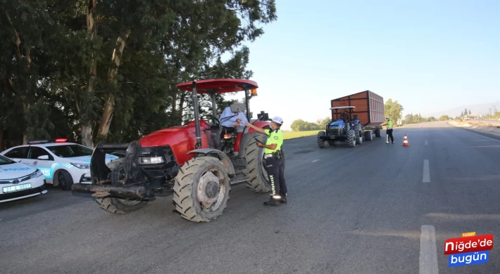
[[[125,48],[125,43],[131,30],[125,30],[120,33],[120,36],[116,40],[115,49],[113,50],[113,57],[111,62],[113,62],[113,67],[108,71],[108,82],[113,86],[113,90],[109,91],[108,98],[104,103],[104,110],[102,113],[101,124],[99,125],[99,130],[97,131],[97,138],[99,140],[106,139],[109,132],[109,126],[111,126],[111,120],[115,112],[115,96],[114,89],[116,87],[116,75],[118,74],[118,67],[120,67],[120,62],[122,60],[123,49]]]

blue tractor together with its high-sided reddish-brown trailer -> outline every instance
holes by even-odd
[[[318,146],[325,148],[335,141],[346,141],[349,147],[380,138],[384,119],[384,98],[373,91],[362,91],[331,100],[332,119],[325,131],[318,132]]]

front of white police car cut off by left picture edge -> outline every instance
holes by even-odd
[[[42,171],[0,155],[0,202],[45,193],[47,190]]]

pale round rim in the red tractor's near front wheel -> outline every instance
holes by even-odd
[[[224,171],[216,167],[206,169],[196,190],[196,196],[203,211],[213,212],[219,209],[225,199],[227,183]]]

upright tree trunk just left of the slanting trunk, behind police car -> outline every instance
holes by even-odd
[[[87,7],[87,32],[90,35],[91,44],[94,45],[94,40],[97,35],[97,29],[94,24],[94,13],[96,11],[96,0],[89,0],[89,6]],[[87,95],[84,98],[94,98],[95,83],[97,74],[97,61],[94,54],[91,56],[90,60],[90,70],[89,70],[89,83],[87,86]],[[88,117],[87,115],[82,115],[81,105],[86,102],[77,102],[77,110],[80,114],[80,134],[82,136],[82,144],[94,148],[94,142],[92,141],[92,129],[93,125],[91,121],[85,121],[82,117]],[[88,119],[88,118],[87,118]]]

